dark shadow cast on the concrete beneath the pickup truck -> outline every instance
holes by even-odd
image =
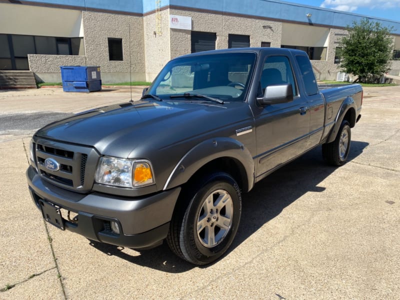
[[[367,142],[352,141],[347,160],[351,161],[360,155],[367,146]],[[318,184],[335,170],[336,167],[327,165],[322,159],[321,147],[318,146],[258,182],[250,192],[242,195],[239,229],[232,245],[221,259],[306,192],[323,191],[325,187]],[[142,251],[96,241],[90,241],[90,245],[107,255],[164,272],[180,273],[195,267],[176,257],[165,242],[159,247]]]

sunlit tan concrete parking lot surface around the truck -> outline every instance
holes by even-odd
[[[243,194],[230,250],[202,267],[165,243],[136,251],[61,231],[30,199],[35,129],[130,98],[113,88],[0,91],[0,299],[398,299],[400,86],[364,89],[345,165],[327,166],[318,147]]]

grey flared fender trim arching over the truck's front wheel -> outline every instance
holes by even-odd
[[[164,190],[185,183],[199,168],[220,157],[238,160],[247,177],[247,190],[254,184],[254,161],[244,145],[229,137],[215,137],[204,140],[191,148],[175,165],[163,187]]]

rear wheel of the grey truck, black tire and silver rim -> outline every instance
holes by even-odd
[[[351,129],[347,120],[340,124],[339,131],[334,141],[322,144],[322,156],[326,161],[335,166],[346,163],[351,143]]]

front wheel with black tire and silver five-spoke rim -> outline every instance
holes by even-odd
[[[186,187],[192,191],[176,204],[167,243],[180,258],[203,265],[218,259],[232,243],[240,221],[241,194],[236,181],[222,172],[203,178],[196,187]]]

